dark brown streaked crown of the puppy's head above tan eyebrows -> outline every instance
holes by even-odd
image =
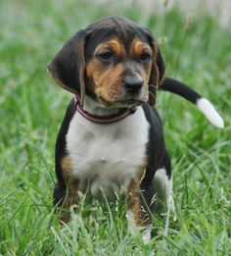
[[[136,38],[148,43],[147,30],[144,27],[121,17],[104,18],[86,29],[90,33],[88,45],[91,49],[113,37],[127,46]]]

